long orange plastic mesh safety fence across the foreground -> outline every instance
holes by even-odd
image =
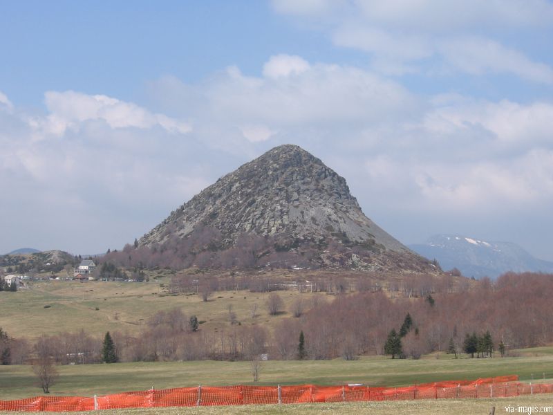
[[[366,386],[226,386],[182,387],[133,391],[86,398],[82,396],[37,396],[0,400],[2,411],[89,411],[137,407],[190,407],[209,405],[263,405],[306,402],[359,402],[452,398],[500,398],[525,394],[553,393],[553,385],[517,382],[517,376],[478,380],[424,383],[407,387]]]

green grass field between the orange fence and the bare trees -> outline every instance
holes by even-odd
[[[438,380],[462,380],[518,375],[534,382],[553,378],[553,354],[517,358],[392,360],[377,356],[355,361],[303,360],[263,362],[258,385],[344,385],[401,386]],[[93,396],[151,387],[197,385],[252,385],[248,362],[135,362],[115,365],[74,365],[59,367],[59,380],[51,387],[53,396]],[[2,399],[26,398],[41,394],[30,366],[0,366]]]

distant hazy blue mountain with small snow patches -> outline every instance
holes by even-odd
[[[553,273],[553,262],[532,257],[516,243],[440,234],[409,248],[436,259],[444,270],[458,268],[465,277],[496,278],[507,271]]]

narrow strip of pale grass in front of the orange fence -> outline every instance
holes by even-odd
[[[514,398],[495,399],[451,399],[451,400],[402,400],[396,402],[368,403],[308,403],[299,405],[245,405],[225,407],[185,407],[185,408],[140,408],[111,409],[100,412],[105,415],[239,415],[239,414],[359,414],[359,415],[487,415],[491,407],[496,408],[496,415],[509,414],[505,407],[512,405],[515,410],[521,407],[543,407],[553,405],[553,395],[516,396]],[[26,415],[29,412],[5,412],[13,415]],[[52,412],[34,412],[35,414],[52,414]],[[99,412],[77,412],[82,415],[96,415]],[[528,414],[528,412],[514,412]],[[543,412],[542,412],[543,413]],[[552,413],[552,412],[549,412]],[[76,412],[57,412],[57,414],[76,414]]]

